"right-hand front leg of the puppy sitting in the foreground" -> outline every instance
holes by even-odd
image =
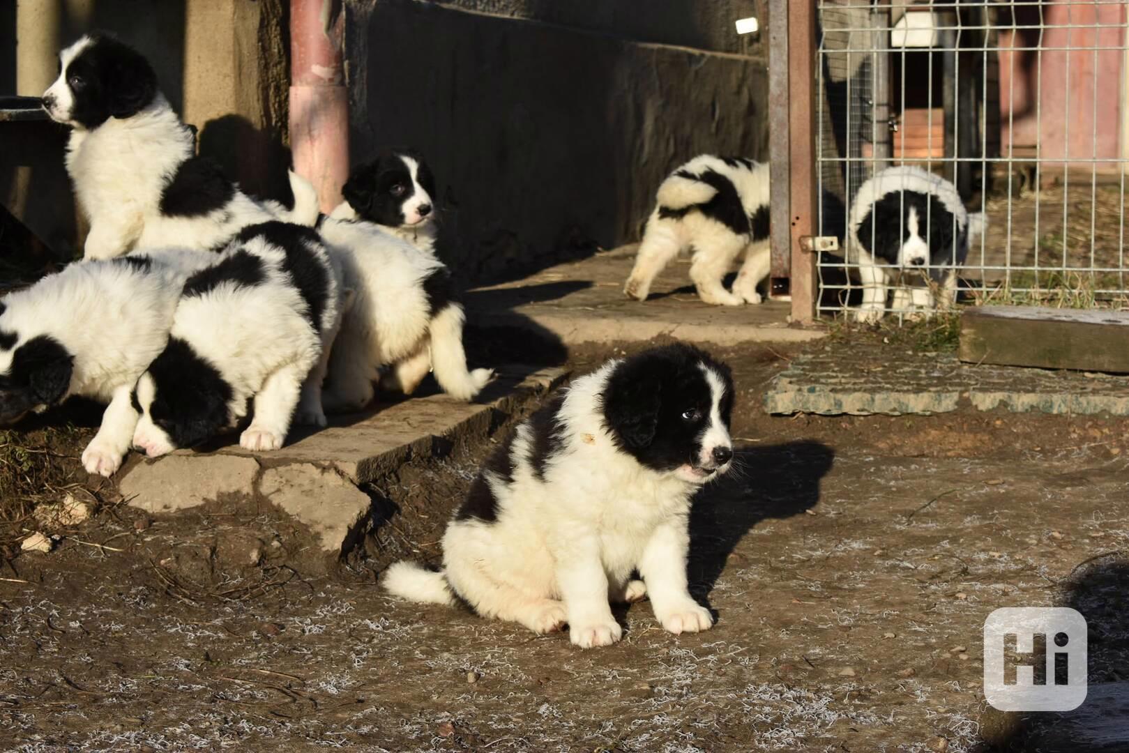
[[[714,615],[690,595],[686,557],[690,552],[688,518],[655,529],[644,549],[639,575],[647,584],[655,619],[674,634],[709,630]]]

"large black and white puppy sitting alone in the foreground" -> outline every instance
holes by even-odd
[[[520,423],[443,539],[444,569],[388,568],[406,599],[467,602],[588,648],[620,639],[610,602],[650,596],[673,632],[714,620],[688,590],[690,504],[729,470],[729,369],[690,345],[612,360]],[[642,580],[632,580],[638,570]]]

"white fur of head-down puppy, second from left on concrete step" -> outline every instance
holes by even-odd
[[[239,438],[240,446],[278,449],[292,419],[325,426],[320,387],[341,316],[340,271],[324,248],[312,249],[329,272],[322,321],[312,327],[307,305],[283,268],[283,251],[255,237],[230,246],[215,263],[239,249],[263,260],[265,281],[251,287],[224,283],[203,295],[181,298],[169,335],[187,342],[230,386],[231,420],[227,428],[239,422],[253,399],[253,420]],[[137,395],[142,414],[133,446],[149,457],[172,452],[176,448],[172,438],[149,414],[154,379],[148,371],[138,380]]]

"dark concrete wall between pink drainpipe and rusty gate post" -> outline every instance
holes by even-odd
[[[754,0],[351,0],[353,161],[428,156],[482,279],[638,237],[695,154],[767,159]]]

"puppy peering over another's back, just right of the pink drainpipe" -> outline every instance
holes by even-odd
[[[330,214],[379,225],[413,246],[436,252],[439,224],[435,177],[415,149],[385,149],[349,173],[344,199]]]

